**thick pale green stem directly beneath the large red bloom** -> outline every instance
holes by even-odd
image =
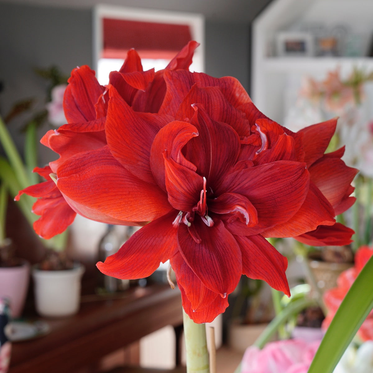
[[[209,373],[205,324],[195,324],[183,309],[186,372]]]

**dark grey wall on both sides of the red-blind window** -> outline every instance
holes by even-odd
[[[43,105],[46,82],[34,67],[57,65],[64,73],[78,65],[92,65],[91,9],[66,9],[0,3],[0,113],[5,115],[16,100],[39,97]],[[249,25],[206,21],[206,72],[231,75],[248,88]],[[22,146],[22,118],[11,132]],[[40,137],[46,129],[40,129]],[[41,147],[43,153],[46,152]],[[43,157],[44,158],[44,157]]]

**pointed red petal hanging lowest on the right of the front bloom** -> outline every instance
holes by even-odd
[[[288,260],[265,238],[235,236],[242,253],[242,273],[252,279],[264,280],[273,289],[283,291],[290,297],[285,271]]]

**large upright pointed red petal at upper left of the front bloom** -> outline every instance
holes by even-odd
[[[112,86],[109,94],[106,139],[110,151],[133,175],[155,184],[150,149],[157,132],[170,122],[170,117],[134,112]]]

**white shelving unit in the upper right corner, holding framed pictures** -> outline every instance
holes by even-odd
[[[346,78],[354,67],[373,71],[373,57],[267,57],[275,51],[280,31],[307,25],[345,26],[368,50],[373,34],[372,0],[273,0],[254,20],[251,99],[265,115],[283,123],[304,75],[324,79],[340,67]]]

